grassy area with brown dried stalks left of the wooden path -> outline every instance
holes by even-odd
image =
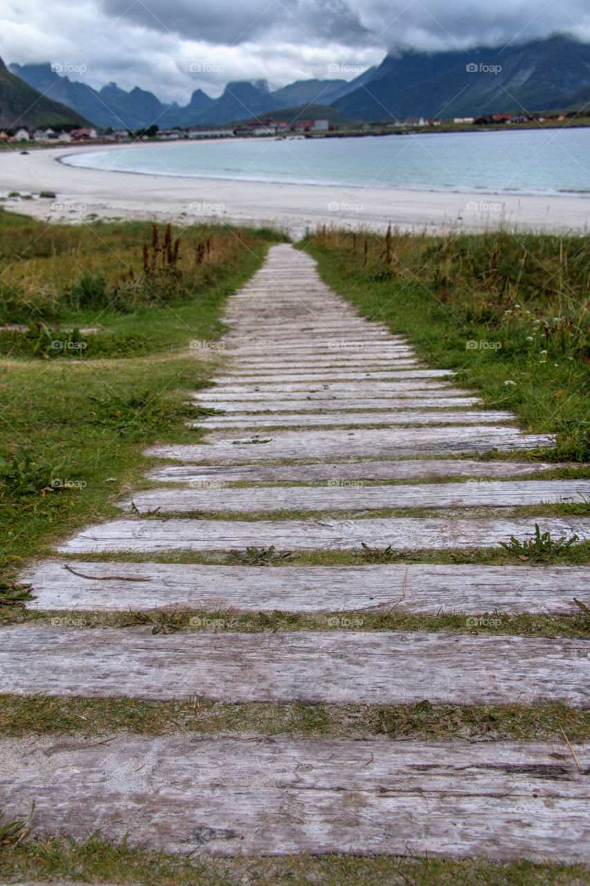
[[[167,263],[162,267],[164,232],[153,271],[148,275],[140,265],[135,288],[126,288],[117,281],[129,276],[132,254],[136,264],[137,255],[142,260],[142,238],[152,234],[151,224],[48,228],[0,211],[0,232],[2,323],[30,329],[43,323],[35,331],[43,340],[49,340],[45,330],[57,317],[64,328],[104,323],[117,343],[105,346],[105,353],[97,345],[96,358],[89,346],[86,356],[74,360],[28,346],[16,353],[12,338],[7,345],[0,333],[0,577],[10,579],[53,540],[120,513],[114,499],[141,484],[151,466],[142,452],[145,444],[198,442],[201,431],[183,424],[192,415],[185,401],[208,384],[219,365],[223,302],[260,266],[272,234],[223,226],[189,229],[182,238],[198,237],[209,244],[208,252],[204,247],[202,260],[196,264],[191,257],[183,268],[181,251],[168,272]],[[174,244],[181,235],[171,229],[169,236]],[[170,248],[174,256],[175,246]],[[148,263],[152,253],[150,245]],[[88,303],[72,302],[72,286],[64,281],[87,273],[104,279],[107,298],[114,301],[103,304],[102,296],[89,291]],[[119,297],[113,295],[117,287]],[[94,337],[97,342],[101,335]],[[62,354],[63,348],[51,351]]]

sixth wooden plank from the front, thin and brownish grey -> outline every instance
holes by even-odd
[[[568,467],[556,462],[470,462],[467,459],[403,459],[400,462],[321,462],[319,464],[167,464],[147,475],[150,480],[192,483],[213,489],[226,483],[250,480],[255,483],[307,482],[326,480],[404,480],[433,477],[518,477],[543,470]]]

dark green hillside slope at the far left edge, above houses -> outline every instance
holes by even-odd
[[[0,127],[16,129],[26,126],[61,128],[64,126],[87,126],[89,121],[66,105],[52,101],[41,95],[38,89],[29,86],[12,74],[0,58]]]

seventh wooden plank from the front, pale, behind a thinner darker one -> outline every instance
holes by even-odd
[[[261,441],[268,442],[261,442]],[[470,425],[411,430],[272,431],[248,438],[222,438],[197,446],[170,444],[150,447],[148,455],[185,462],[267,462],[269,459],[325,459],[402,455],[458,455],[470,452],[547,447],[544,434],[524,434],[516,428]]]

